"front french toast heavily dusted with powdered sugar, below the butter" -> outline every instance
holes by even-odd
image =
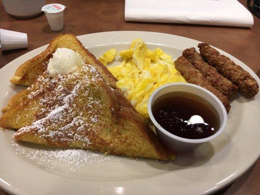
[[[23,93],[27,98],[0,118],[0,126],[20,128],[16,140],[53,148],[167,158],[145,120],[92,65],[57,78],[46,71]]]

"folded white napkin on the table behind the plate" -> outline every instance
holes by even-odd
[[[237,0],[125,0],[126,21],[252,27],[252,14]]]

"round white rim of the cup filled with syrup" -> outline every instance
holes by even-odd
[[[219,130],[213,134],[212,136],[209,136],[209,137],[205,137],[205,138],[200,138],[200,139],[189,139],[189,138],[184,138],[184,137],[179,137],[179,136],[176,136],[168,131],[166,131],[164,128],[162,128],[160,126],[160,124],[156,121],[155,117],[153,116],[153,113],[152,113],[152,103],[155,102],[154,100],[154,97],[161,91],[161,90],[164,90],[165,88],[175,88],[175,87],[180,87],[180,86],[183,86],[183,87],[188,87],[188,88],[193,88],[195,90],[198,90],[200,92],[203,92],[204,94],[206,94],[209,98],[211,98],[213,101],[215,101],[218,105],[218,108],[216,108],[216,106],[212,105],[215,110],[217,111],[217,114],[219,115],[218,117],[220,118],[221,116],[221,119],[220,119],[220,127],[219,127]],[[174,91],[173,91],[174,92]],[[169,93],[169,92],[168,92]],[[190,93],[190,92],[188,92]],[[165,93],[166,94],[166,93]],[[191,93],[191,94],[194,94],[194,93]],[[162,94],[163,95],[163,94]],[[195,94],[197,95],[197,94]],[[198,96],[198,95],[197,95]],[[159,96],[161,97],[161,96]],[[159,98],[158,97],[158,98]],[[205,99],[205,98],[204,98]],[[191,84],[191,83],[170,83],[170,84],[166,84],[166,85],[162,85],[161,87],[159,87],[157,90],[155,90],[153,92],[153,94],[150,96],[149,100],[148,100],[148,114],[149,114],[149,117],[151,119],[151,121],[153,122],[153,124],[155,125],[155,127],[161,132],[164,134],[164,136],[167,136],[167,137],[170,137],[172,139],[175,139],[175,140],[178,140],[178,141],[181,141],[181,142],[185,142],[185,143],[204,143],[204,142],[207,142],[207,141],[210,141],[212,139],[215,139],[216,137],[218,137],[225,129],[226,127],[226,124],[227,124],[227,112],[226,112],[226,109],[224,107],[224,105],[222,104],[222,102],[220,101],[219,98],[217,98],[213,93],[211,93],[210,91],[198,86],[198,85],[195,85],[195,84]],[[220,112],[218,112],[220,110]],[[221,122],[222,121],[222,122]]]

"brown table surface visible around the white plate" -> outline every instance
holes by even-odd
[[[46,3],[52,1],[46,0]],[[17,19],[8,15],[0,0],[0,27],[27,33],[26,49],[6,51],[0,55],[0,68],[21,55],[45,45],[60,33],[84,35],[105,31],[139,30],[179,35],[210,43],[247,64],[260,77],[260,19],[254,16],[250,28],[125,22],[124,0],[56,0],[67,6],[64,29],[54,32],[41,14],[32,19]],[[240,0],[245,6],[246,0]],[[260,192],[260,160],[244,175],[214,195],[257,195]],[[7,195],[0,189],[0,195]]]

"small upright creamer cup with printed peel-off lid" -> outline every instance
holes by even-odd
[[[59,3],[44,5],[41,11],[45,13],[48,23],[53,31],[63,29],[63,11],[66,7]]]

